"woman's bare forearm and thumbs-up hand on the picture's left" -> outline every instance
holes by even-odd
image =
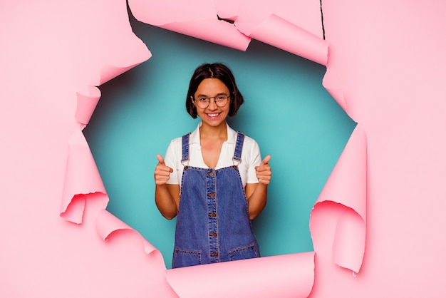
[[[180,185],[167,184],[172,168],[164,163],[161,155],[157,155],[158,164],[155,167],[155,203],[161,215],[167,220],[177,216],[180,205]]]

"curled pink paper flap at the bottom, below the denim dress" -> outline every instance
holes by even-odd
[[[209,292],[222,298],[276,297],[277,289],[281,297],[308,297],[314,284],[314,256],[301,252],[204,264],[169,269],[166,277],[180,297],[209,297]]]

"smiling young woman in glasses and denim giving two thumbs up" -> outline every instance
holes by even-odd
[[[177,216],[172,268],[260,257],[251,220],[266,205],[271,157],[261,160],[256,141],[227,125],[243,101],[227,66],[199,66],[186,108],[202,121],[157,155],[155,202]]]

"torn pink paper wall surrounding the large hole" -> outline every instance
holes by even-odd
[[[319,1],[195,0],[185,13],[171,0],[167,15],[129,2],[149,24],[218,31],[227,36],[212,41],[234,48],[251,37],[326,65],[323,85],[358,122],[315,202],[315,252],[183,270],[166,270],[150,240],[105,210],[81,132],[94,86],[146,61],[150,45],[123,0],[40,2],[0,9],[1,297],[446,295],[444,1],[325,0],[326,41]]]

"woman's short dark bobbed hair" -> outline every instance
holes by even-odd
[[[239,111],[240,106],[244,102],[242,93],[240,93],[237,84],[235,83],[232,71],[222,63],[204,63],[195,69],[192,78],[190,78],[189,91],[186,97],[186,110],[192,118],[197,118],[197,109],[192,103],[191,96],[194,98],[198,86],[205,78],[218,78],[229,89],[229,96],[231,101],[229,103],[229,116],[234,116]]]

